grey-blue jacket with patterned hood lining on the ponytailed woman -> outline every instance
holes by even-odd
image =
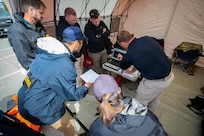
[[[166,136],[157,117],[147,107],[134,98],[126,97],[123,101],[124,110],[115,116],[114,122],[105,125],[102,119],[96,119],[90,127],[90,136]]]

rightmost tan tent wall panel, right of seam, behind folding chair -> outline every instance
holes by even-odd
[[[179,0],[175,15],[166,37],[166,54],[171,57],[173,49],[181,42],[192,42],[204,47],[204,1]],[[204,68],[204,58],[197,65]]]

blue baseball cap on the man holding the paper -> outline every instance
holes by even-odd
[[[88,38],[82,34],[81,29],[78,26],[69,26],[64,29],[63,41],[75,41],[75,40],[83,40],[88,41]]]

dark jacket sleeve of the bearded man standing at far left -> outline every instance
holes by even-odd
[[[20,31],[11,30],[8,33],[8,39],[19,63],[23,68],[28,70],[31,62],[36,56],[36,52],[32,52],[32,47],[30,45],[34,43],[29,43],[24,33]]]

